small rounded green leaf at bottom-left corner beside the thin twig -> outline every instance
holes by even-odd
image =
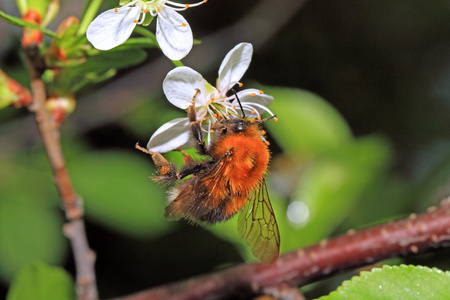
[[[74,283],[62,268],[36,261],[24,267],[14,278],[7,300],[72,300]]]

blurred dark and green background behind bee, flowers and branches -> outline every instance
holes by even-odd
[[[61,8],[54,27],[81,5]],[[0,9],[18,15],[14,1]],[[202,40],[183,62],[211,83],[231,48],[254,45],[243,83],[275,97],[267,180],[282,252],[422,212],[449,194],[450,1],[210,0],[183,15]],[[0,36],[0,67],[27,84],[20,30],[0,22]],[[165,188],[149,179],[151,159],[134,144],[184,116],[162,94],[172,68],[149,50],[142,65],[81,90],[62,127],[102,298],[254,260],[236,220],[202,228],[163,217]],[[35,259],[73,273],[63,222],[33,118],[0,110],[0,298]],[[448,255],[405,262],[449,270]],[[310,285],[306,296],[350,275]]]

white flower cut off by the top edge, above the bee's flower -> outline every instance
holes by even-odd
[[[177,11],[205,3],[180,4],[168,0],[133,0],[122,7],[107,10],[89,24],[86,37],[99,50],[117,47],[130,37],[136,25],[144,23],[147,13],[157,18],[156,40],[171,60],[180,60],[192,49],[192,30]]]

